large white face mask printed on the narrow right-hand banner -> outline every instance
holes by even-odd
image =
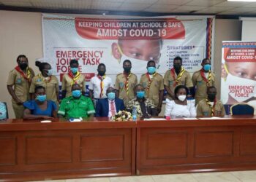
[[[239,103],[256,96],[256,81],[252,79],[244,79],[228,74],[225,84],[228,94]]]

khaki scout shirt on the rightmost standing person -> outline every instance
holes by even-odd
[[[196,71],[192,76],[192,82],[194,87],[196,87],[195,91],[195,105],[199,103],[200,100],[207,98],[207,85],[206,81],[200,74],[200,70]],[[211,72],[211,81],[209,82],[209,87],[215,86],[215,74]]]

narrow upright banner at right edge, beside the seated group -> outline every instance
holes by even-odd
[[[221,100],[256,106],[256,41],[222,42]]]

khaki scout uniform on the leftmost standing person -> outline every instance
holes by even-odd
[[[10,71],[8,76],[7,85],[14,85],[14,92],[17,95],[18,99],[25,102],[30,99],[29,96],[29,87],[32,78],[34,77],[34,71],[28,67],[26,75],[23,74],[23,71],[17,66],[15,69]],[[17,119],[23,118],[23,105],[18,105],[15,103],[15,100],[12,98],[12,108],[15,112],[15,117]]]

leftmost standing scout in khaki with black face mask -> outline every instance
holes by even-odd
[[[26,55],[19,55],[16,66],[8,76],[7,90],[12,96],[12,108],[17,119],[23,118],[26,100],[30,100],[29,87],[34,77],[34,71],[29,68],[29,61]]]

